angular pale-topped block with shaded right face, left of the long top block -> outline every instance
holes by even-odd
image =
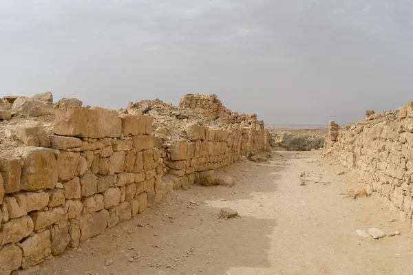
[[[13,132],[19,140],[28,146],[50,146],[49,136],[41,122],[24,120],[16,124]]]

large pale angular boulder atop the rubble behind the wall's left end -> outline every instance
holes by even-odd
[[[21,96],[12,105],[12,115],[23,115],[23,117],[38,117],[42,115],[53,115],[54,107],[43,100],[35,100]]]

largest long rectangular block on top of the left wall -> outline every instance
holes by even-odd
[[[120,137],[122,125],[118,113],[103,108],[73,107],[58,109],[53,132],[76,137]]]

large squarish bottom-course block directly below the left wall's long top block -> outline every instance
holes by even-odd
[[[80,241],[85,241],[93,236],[102,234],[109,221],[109,212],[100,210],[92,214],[85,214],[80,219],[81,238]]]

